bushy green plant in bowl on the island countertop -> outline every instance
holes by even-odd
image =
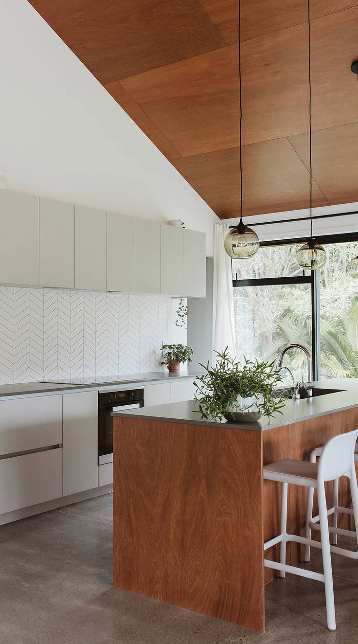
[[[261,415],[280,412],[285,398],[276,393],[282,381],[274,363],[252,361],[244,357],[243,366],[229,355],[228,347],[217,354],[212,367],[200,365],[205,374],[194,384],[195,399],[202,419],[230,422],[254,422]]]

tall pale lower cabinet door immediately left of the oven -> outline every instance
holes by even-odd
[[[63,495],[98,488],[98,393],[63,394]]]

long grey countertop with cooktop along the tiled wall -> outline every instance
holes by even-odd
[[[193,380],[195,374],[181,372],[179,375],[169,374],[169,372],[149,372],[147,374],[126,374],[121,376],[117,383],[97,383],[97,384],[61,384],[61,383],[15,383],[0,385],[0,399],[13,397],[29,397],[34,395],[50,395],[53,393],[66,393],[74,391],[101,390],[120,391],[123,389],[138,389],[147,384],[169,383],[180,379]]]

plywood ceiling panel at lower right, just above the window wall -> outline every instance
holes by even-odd
[[[308,135],[290,137],[308,166]],[[312,174],[330,204],[358,202],[358,123],[314,132]]]

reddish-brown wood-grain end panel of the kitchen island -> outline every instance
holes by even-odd
[[[263,631],[261,433],[113,420],[114,584]]]

